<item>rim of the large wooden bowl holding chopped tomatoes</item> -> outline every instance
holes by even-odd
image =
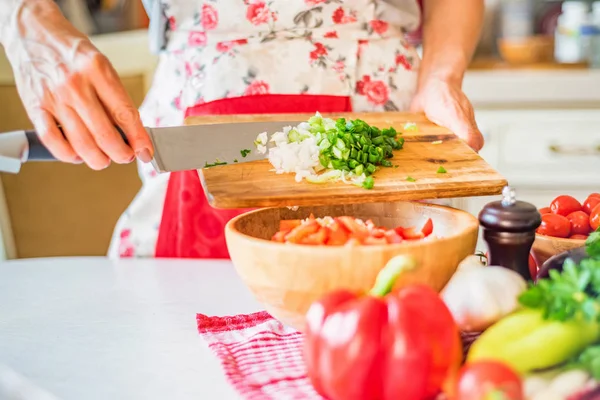
[[[423,245],[427,245],[427,244],[431,244],[431,243],[439,244],[439,243],[444,243],[444,242],[450,242],[457,238],[464,237],[465,235],[467,235],[468,233],[470,233],[473,230],[475,231],[475,234],[477,234],[479,231],[479,220],[477,219],[477,217],[468,213],[467,211],[460,210],[458,208],[442,206],[439,204],[421,203],[421,202],[417,202],[417,201],[402,201],[402,200],[400,200],[400,201],[397,201],[394,203],[419,204],[426,208],[437,208],[437,209],[444,210],[444,211],[451,211],[453,213],[457,213],[457,214],[461,215],[461,217],[464,218],[465,221],[469,222],[469,224],[464,229],[462,229],[461,231],[459,231],[457,233],[453,233],[451,235],[443,236],[443,237],[435,237],[432,240],[427,240],[427,238],[426,238],[424,240],[414,240],[414,241],[405,240],[401,243],[375,244],[375,245],[367,245],[367,246],[364,246],[364,245],[312,246],[312,245],[299,244],[299,243],[279,243],[279,242],[274,242],[269,239],[260,239],[260,238],[256,238],[256,237],[247,235],[245,233],[240,232],[235,227],[236,223],[240,219],[247,217],[248,215],[259,213],[259,212],[264,212],[267,210],[273,210],[273,209],[277,210],[277,209],[284,208],[284,207],[264,207],[264,208],[259,208],[259,209],[252,210],[252,211],[235,216],[225,225],[225,231],[226,231],[226,234],[227,234],[227,232],[229,232],[231,234],[237,234],[240,239],[245,240],[250,243],[256,243],[259,246],[280,246],[279,247],[280,249],[284,249],[284,248],[285,249],[296,249],[298,251],[310,251],[313,253],[315,251],[334,252],[334,251],[339,251],[340,249],[352,249],[352,250],[360,249],[360,251],[365,251],[365,252],[381,252],[384,249],[385,250],[410,249],[410,248],[421,247]],[[320,207],[320,206],[316,205],[314,207]],[[326,205],[323,205],[322,207],[326,207]]]

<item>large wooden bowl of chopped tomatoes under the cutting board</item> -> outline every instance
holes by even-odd
[[[420,226],[433,221],[433,234],[420,241],[376,246],[308,246],[272,242],[283,219],[352,216],[371,219],[388,228]],[[473,254],[479,222],[471,214],[424,203],[369,203],[288,208],[266,208],[232,219],[225,228],[233,265],[257,300],[275,318],[299,331],[315,300],[346,288],[366,291],[392,257],[415,257],[418,267],[403,275],[397,287],[424,283],[441,290],[458,263]],[[434,237],[435,236],[435,237]]]

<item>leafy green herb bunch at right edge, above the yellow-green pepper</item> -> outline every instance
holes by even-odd
[[[544,317],[559,321],[583,318],[600,322],[600,234],[592,233],[586,241],[585,258],[577,264],[567,258],[563,270],[550,270],[519,296],[525,307],[540,308]]]

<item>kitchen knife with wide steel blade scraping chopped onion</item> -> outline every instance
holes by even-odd
[[[154,145],[152,165],[157,172],[185,171],[210,166],[264,160],[254,141],[262,132],[281,131],[301,121],[240,122],[148,128]],[[117,128],[127,143],[124,133]],[[17,173],[28,161],[56,161],[34,130],[0,133],[0,172]]]

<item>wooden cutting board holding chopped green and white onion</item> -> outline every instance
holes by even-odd
[[[324,116],[359,118],[379,128],[393,126],[399,132],[404,131],[407,122],[414,122],[417,130],[403,133],[404,148],[395,151],[390,159],[398,167],[378,170],[373,175],[375,187],[372,190],[343,182],[298,183],[294,180],[295,174],[278,175],[265,160],[199,171],[210,204],[216,208],[253,208],[488,196],[500,194],[507,185],[506,179],[469,146],[421,114],[387,112]],[[202,116],[189,117],[185,124],[298,121],[310,117],[298,114]],[[447,173],[438,173],[440,166]],[[415,182],[408,181],[408,177]]]

